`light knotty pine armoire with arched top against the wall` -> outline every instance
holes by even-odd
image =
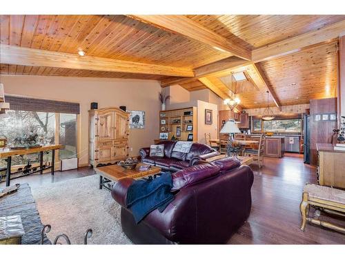
[[[89,113],[88,161],[90,166],[114,164],[128,157],[129,113],[116,107]]]

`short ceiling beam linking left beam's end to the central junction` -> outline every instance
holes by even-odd
[[[238,57],[228,57],[220,61],[208,64],[206,66],[201,66],[200,68],[195,68],[195,77],[193,78],[184,78],[184,77],[173,77],[164,79],[161,81],[161,87],[172,86],[174,84],[186,84],[199,79],[201,77],[210,77],[213,76],[219,71],[233,70],[235,68],[246,66],[251,64],[250,61],[239,59]]]

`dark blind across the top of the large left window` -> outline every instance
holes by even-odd
[[[80,113],[79,104],[75,102],[59,102],[11,95],[6,95],[5,99],[6,102],[10,103],[10,110],[37,111],[45,113]]]

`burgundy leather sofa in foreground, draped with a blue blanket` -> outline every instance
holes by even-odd
[[[226,244],[250,214],[253,171],[229,160],[204,162],[172,173],[175,199],[139,224],[126,209],[132,179],[119,180],[112,197],[121,204],[121,227],[135,244]]]

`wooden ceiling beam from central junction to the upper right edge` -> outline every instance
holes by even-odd
[[[299,50],[304,50],[308,47],[313,47],[315,44],[320,44],[325,41],[331,41],[345,33],[345,20],[333,23],[316,31],[306,32],[296,37],[279,41],[275,44],[268,44],[262,48],[257,48],[252,51],[252,61],[259,62],[276,57],[289,55]]]

